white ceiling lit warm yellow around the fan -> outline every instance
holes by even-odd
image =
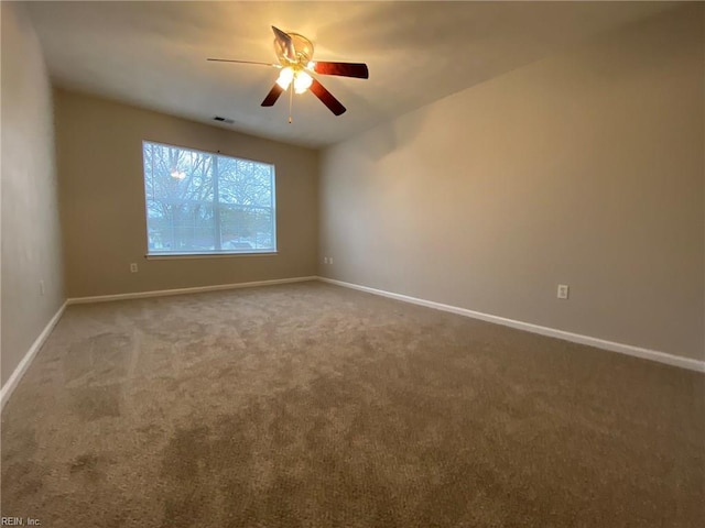
[[[675,2],[31,2],[61,87],[319,147]],[[278,72],[271,25],[314,42],[319,61],[365,62],[369,80],[319,76],[348,109],[313,95],[260,102]]]

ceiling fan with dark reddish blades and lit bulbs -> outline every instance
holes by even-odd
[[[279,64],[259,63],[256,61],[235,61],[228,58],[208,58],[219,63],[239,63],[239,64],[261,64],[281,69],[279,78],[269,91],[262,107],[272,107],[286,89],[289,89],[289,122],[291,123],[291,105],[293,92],[304,94],[311,90],[334,114],[340,116],[346,108],[338,101],[333,94],[324,88],[311,74],[337,75],[341,77],[355,77],[358,79],[369,78],[367,65],[364,63],[332,63],[313,59],[312,42],[299,33],[286,33],[274,28],[274,51]]]

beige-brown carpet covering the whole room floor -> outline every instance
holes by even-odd
[[[2,413],[47,527],[703,527],[705,376],[323,283],[67,308]]]

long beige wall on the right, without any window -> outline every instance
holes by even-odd
[[[326,150],[321,274],[705,359],[703,59],[691,4]]]

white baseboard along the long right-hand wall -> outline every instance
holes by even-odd
[[[541,327],[539,324],[532,324],[530,322],[517,321],[514,319],[507,319],[505,317],[482,314],[480,311],[468,310],[466,308],[459,308],[457,306],[444,305],[442,302],[435,302],[433,300],[425,300],[416,297],[410,297],[408,295],[393,294],[391,292],[384,292],[382,289],[360,286],[358,284],[352,284],[352,283],[345,283],[343,280],[336,280],[333,278],[318,277],[318,280],[323,280],[324,283],[336,284],[338,286],[344,286],[346,288],[359,289],[361,292],[367,292],[368,294],[380,295],[382,297],[389,297],[391,299],[402,300],[404,302],[411,302],[414,305],[425,306],[427,308],[434,308],[436,310],[449,311],[452,314],[458,314],[460,316],[471,317],[474,319],[480,319],[482,321],[494,322],[496,324],[503,324],[506,327],[511,327],[519,330],[525,330],[532,333],[540,333],[541,336],[563,339],[565,341],[572,341],[574,343],[579,343],[579,344],[587,344],[589,346],[609,350],[611,352],[619,352],[620,354],[633,355],[636,358],[641,358],[644,360],[657,361],[659,363],[665,363],[668,365],[679,366],[681,369],[687,369],[691,371],[705,372],[705,361],[692,360],[690,358],[681,358],[679,355],[666,354],[665,352],[659,352],[655,350],[632,346],[631,344],[616,343],[614,341],[606,341],[604,339],[592,338],[589,336],[582,336],[579,333],[556,330],[555,328]]]

